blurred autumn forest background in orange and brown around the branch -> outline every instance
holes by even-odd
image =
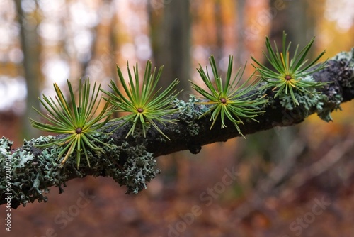
[[[164,65],[161,87],[177,77],[187,100],[211,54],[221,70],[234,55],[236,69],[283,30],[293,50],[316,35],[323,60],[348,51],[354,1],[0,0],[0,135],[14,148],[37,138],[28,117],[38,119],[40,94],[86,77],[107,89],[127,60]],[[52,187],[47,203],[12,210],[0,236],[354,236],[353,101],[342,109],[331,123],[314,115],[157,158],[161,175],[138,195],[105,177],[72,180],[60,195]],[[93,196],[78,207],[83,193]]]

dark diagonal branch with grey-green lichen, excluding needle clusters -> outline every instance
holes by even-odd
[[[321,100],[316,103],[302,104],[293,109],[285,109],[279,99],[273,99],[272,90],[266,92],[270,98],[265,113],[257,117],[258,122],[247,120],[240,129],[244,135],[267,130],[275,126],[292,126],[301,123],[310,114],[317,113],[326,121],[331,121],[330,113],[340,109],[340,104],[354,98],[354,49],[348,53],[339,53],[329,60],[328,67],[312,76],[318,82],[331,82],[319,89]],[[57,155],[62,148],[38,148],[36,145],[47,143],[51,136],[41,136],[25,141],[21,148],[11,150],[12,142],[6,138],[0,140],[0,204],[11,205],[16,209],[20,204],[47,201],[45,193],[49,187],[59,188],[64,192],[65,182],[77,177],[109,176],[120,185],[127,186],[127,193],[137,193],[146,188],[146,182],[158,173],[156,160],[159,155],[175,153],[179,150],[190,150],[199,153],[202,145],[225,142],[230,138],[241,136],[230,121],[225,121],[227,128],[220,129],[218,120],[210,130],[210,116],[198,119],[205,111],[205,106],[196,104],[195,97],[189,101],[178,101],[179,112],[173,114],[176,123],[160,126],[161,131],[171,138],[167,140],[154,128],[147,131],[144,138],[141,133],[125,138],[130,127],[122,126],[111,135],[97,135],[104,143],[115,145],[110,149],[103,147],[105,153],[91,153],[89,150],[89,167],[86,160],[81,159],[79,169],[76,159],[69,158],[63,168],[59,167]],[[110,122],[113,131],[119,122]],[[137,128],[138,129],[138,128]],[[62,136],[62,135],[61,135]],[[96,144],[100,146],[100,144]]]

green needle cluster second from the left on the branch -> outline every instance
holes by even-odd
[[[111,102],[119,107],[118,111],[128,113],[125,116],[115,119],[123,121],[120,123],[120,126],[126,123],[131,124],[126,138],[130,135],[134,135],[137,126],[142,128],[144,137],[146,137],[147,130],[153,126],[156,131],[159,131],[161,135],[169,139],[161,131],[158,123],[164,126],[166,122],[173,122],[171,114],[178,110],[174,108],[175,104],[173,104],[173,100],[176,99],[178,94],[176,93],[176,89],[174,89],[176,84],[178,84],[178,79],[175,79],[169,87],[163,91],[161,91],[161,88],[156,89],[162,69],[163,67],[160,67],[157,73],[156,68],[152,71],[152,62],[148,61],[145,67],[144,79],[140,86],[137,65],[133,67],[134,79],[129,65],[127,65],[129,76],[128,84],[125,82],[120,67],[117,67],[119,82],[122,85],[123,92],[118,89],[118,85],[112,80],[110,81],[110,88],[113,92],[103,91],[111,98]],[[118,128],[120,126],[118,126]]]

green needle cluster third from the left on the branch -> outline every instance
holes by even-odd
[[[193,89],[202,95],[207,101],[200,102],[200,104],[209,105],[209,109],[202,114],[206,116],[211,113],[212,125],[210,129],[217,121],[217,118],[221,119],[221,128],[226,127],[224,121],[225,118],[229,118],[237,131],[241,133],[239,128],[240,123],[244,123],[245,119],[251,119],[256,121],[255,117],[258,114],[263,113],[259,110],[259,106],[265,104],[266,100],[263,97],[257,97],[258,92],[254,92],[253,89],[258,85],[259,82],[253,80],[249,84],[253,75],[249,77],[244,83],[241,82],[241,77],[244,74],[244,70],[241,71],[241,68],[237,71],[236,76],[232,79],[232,61],[233,57],[229,57],[229,65],[227,68],[227,76],[225,82],[223,83],[222,77],[217,72],[217,66],[215,63],[215,58],[210,57],[210,66],[212,67],[212,75],[215,79],[213,83],[208,71],[206,72],[202,69],[202,66],[198,68],[198,72],[202,81],[207,86],[207,90],[198,86],[194,82],[191,82]],[[200,116],[200,117],[202,117]]]

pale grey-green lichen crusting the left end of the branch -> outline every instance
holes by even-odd
[[[8,165],[9,187],[6,188],[6,179],[0,181],[1,197],[7,193],[13,195],[12,202],[18,204],[27,204],[34,202],[47,202],[45,193],[49,192],[48,187],[59,187],[59,192],[64,192],[62,185],[67,180],[75,177],[110,176],[120,185],[127,186],[127,193],[137,194],[142,189],[147,188],[147,182],[150,182],[157,174],[159,169],[156,166],[154,154],[146,150],[143,143],[130,145],[126,141],[121,145],[115,145],[113,138],[108,135],[96,134],[96,138],[103,140],[112,147],[103,147],[105,155],[101,153],[91,153],[88,155],[91,162],[91,168],[87,169],[88,164],[83,160],[82,166],[78,170],[74,159],[69,159],[66,165],[61,168],[56,162],[57,155],[62,148],[53,145],[49,148],[39,150],[34,145],[48,143],[52,136],[41,136],[24,142],[22,148],[11,153],[12,142],[6,138],[0,140],[0,165]],[[6,177],[6,168],[1,169],[1,177]],[[70,177],[69,177],[70,176]]]

